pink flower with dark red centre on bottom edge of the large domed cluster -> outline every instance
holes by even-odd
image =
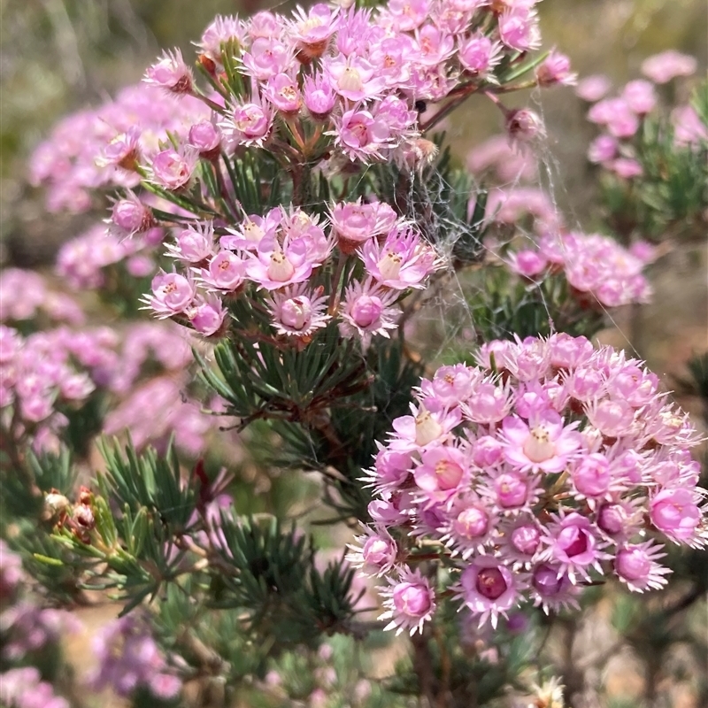
[[[475,558],[463,571],[458,593],[470,612],[479,615],[480,627],[490,620],[496,628],[499,615],[506,617],[519,598],[512,571],[486,556]]]

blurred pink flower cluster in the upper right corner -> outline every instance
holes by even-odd
[[[588,119],[604,127],[605,131],[590,143],[589,161],[602,165],[623,180],[631,180],[643,173],[632,140],[645,117],[657,108],[658,98],[654,83],[666,83],[676,76],[695,73],[696,59],[669,50],[646,59],[642,72],[650,81],[629,81],[619,96],[604,97],[609,90],[609,84],[604,84],[603,90],[593,90],[595,83],[599,84],[600,79],[604,77],[589,77],[586,81],[593,80],[593,85],[586,84],[579,94],[591,103],[597,101],[590,107]],[[671,119],[677,145],[708,141],[708,127],[692,106],[679,106],[673,111]]]

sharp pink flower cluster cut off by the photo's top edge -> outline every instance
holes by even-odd
[[[334,151],[411,164],[420,157],[416,102],[498,83],[497,65],[540,45],[535,4],[391,0],[376,11],[315,4],[290,17],[219,16],[204,31],[199,60],[219,78],[235,59],[246,77],[245,89],[222,93],[227,108],[218,128],[235,145],[268,147],[280,136],[310,156]],[[225,58],[225,47],[235,57]],[[176,54],[147,74],[173,94],[189,93],[188,77]],[[571,81],[566,58],[552,54],[537,81]],[[178,158],[186,176],[189,157],[170,159]]]

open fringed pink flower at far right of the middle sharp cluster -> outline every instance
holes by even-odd
[[[381,245],[365,242],[359,255],[366,273],[396,290],[425,287],[425,279],[438,267],[435,251],[408,226],[391,229]]]

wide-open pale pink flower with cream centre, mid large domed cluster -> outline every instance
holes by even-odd
[[[520,418],[504,418],[504,457],[522,470],[556,473],[563,470],[576,450],[581,447],[581,435],[576,423],[563,425],[557,412],[546,410],[528,423]]]

